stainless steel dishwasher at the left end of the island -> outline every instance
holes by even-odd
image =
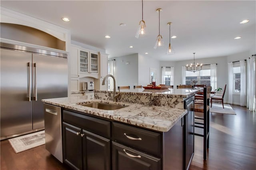
[[[60,107],[44,104],[44,128],[46,150],[63,163]]]

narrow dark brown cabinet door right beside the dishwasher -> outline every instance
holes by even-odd
[[[73,169],[82,169],[81,128],[63,122],[63,161]]]

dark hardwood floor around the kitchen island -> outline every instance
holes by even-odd
[[[210,148],[203,160],[202,137],[195,137],[190,170],[255,170],[256,113],[232,105],[236,115],[210,113]],[[8,140],[0,142],[1,170],[67,170],[44,145],[15,154]]]

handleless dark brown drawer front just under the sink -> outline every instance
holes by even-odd
[[[94,117],[63,111],[63,121],[84,128],[105,138],[110,138],[110,122]]]

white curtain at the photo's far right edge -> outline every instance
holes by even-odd
[[[255,57],[247,59],[247,108],[256,111],[255,100]]]

